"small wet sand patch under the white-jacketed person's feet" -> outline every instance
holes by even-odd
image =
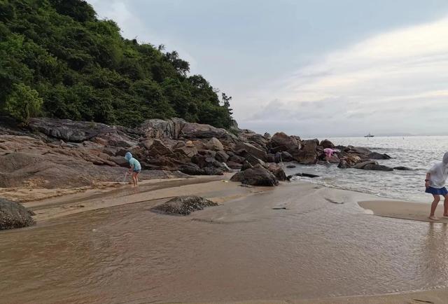
[[[438,221],[429,219],[430,204],[421,202],[400,202],[397,200],[370,200],[359,202],[360,207],[371,210],[374,215],[393,217],[395,219],[409,219],[412,221],[427,221],[434,223],[448,223],[448,218],[442,217],[443,202],[439,202],[435,215]]]

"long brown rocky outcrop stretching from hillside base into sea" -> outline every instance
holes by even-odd
[[[0,186],[55,188],[116,181],[123,174],[123,167],[129,166],[124,159],[127,151],[140,161],[144,169],[140,176],[144,178],[156,171],[223,174],[230,168],[271,168],[269,163],[295,161],[311,165],[325,160],[323,148],[334,147],[327,139],[302,140],[283,132],[270,137],[236,126],[228,132],[179,118],[146,120],[133,129],[33,118],[28,128],[11,130],[0,121]],[[338,163],[339,167],[363,168],[366,161],[390,158],[367,148],[337,148],[341,151],[332,156],[330,163]],[[272,170],[276,179],[283,180],[284,172],[277,171]]]

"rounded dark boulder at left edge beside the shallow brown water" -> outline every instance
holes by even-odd
[[[34,225],[34,219],[31,217],[31,212],[17,202],[0,198],[0,230],[32,225]]]

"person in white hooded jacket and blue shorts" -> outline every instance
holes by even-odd
[[[433,195],[434,200],[431,204],[431,211],[429,214],[429,218],[437,221],[437,217],[435,217],[435,209],[437,208],[437,204],[440,202],[440,195],[444,197],[443,204],[443,217],[448,217],[448,191],[445,188],[445,183],[448,178],[448,152],[444,154],[442,163],[437,163],[433,165],[430,170],[426,173],[425,186],[426,193],[430,193]]]

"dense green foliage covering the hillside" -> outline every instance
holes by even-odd
[[[231,97],[164,47],[123,39],[81,0],[0,0],[0,111],[134,126],[181,117],[229,127]]]

